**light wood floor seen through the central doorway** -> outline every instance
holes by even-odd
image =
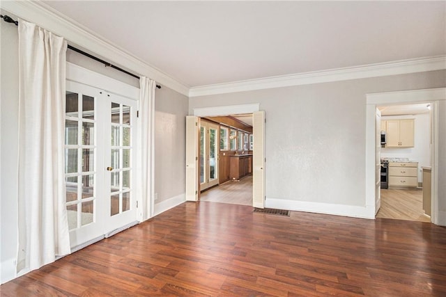
[[[210,188],[200,194],[200,201],[252,205],[252,175]]]

